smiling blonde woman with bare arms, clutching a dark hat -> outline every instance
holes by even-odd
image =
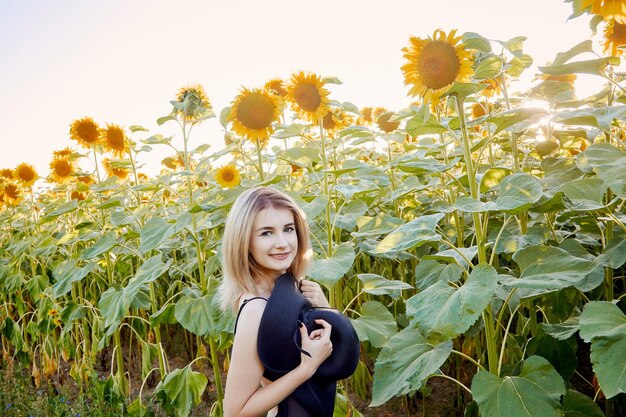
[[[233,205],[222,241],[222,307],[238,311],[235,339],[224,397],[225,417],[314,417],[290,398],[330,356],[331,325],[310,333],[299,325],[300,365],[274,381],[264,378],[257,351],[259,325],[267,299],[278,277],[290,273],[293,285],[317,307],[328,307],[321,287],[303,279],[309,266],[311,244],[304,213],[293,200],[269,187],[243,192]],[[272,347],[274,348],[274,347]],[[276,346],[276,355],[281,347]],[[333,394],[334,395],[334,394]]]

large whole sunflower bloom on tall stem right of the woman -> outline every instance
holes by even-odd
[[[425,102],[436,100],[454,82],[467,81],[472,74],[472,55],[459,43],[456,30],[448,35],[440,29],[432,38],[411,37],[411,45],[402,48],[407,63],[402,66],[404,84],[411,84],[409,94],[421,96]]]

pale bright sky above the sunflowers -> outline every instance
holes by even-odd
[[[240,87],[299,70],[343,81],[332,99],[399,110],[411,101],[401,49],[438,28],[528,37],[530,76],[590,37],[589,18],[570,14],[558,0],[0,0],[0,168],[48,175],[52,151],[77,147],[69,125],[83,116],[171,135],[156,119],[191,83],[218,115]],[[193,134],[191,147],[202,143],[223,146],[217,119]],[[159,149],[143,171],[171,154]]]

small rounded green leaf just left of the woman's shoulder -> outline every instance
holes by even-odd
[[[213,296],[187,294],[176,303],[174,315],[185,329],[198,336],[213,334],[216,330],[213,312],[218,311],[213,305]]]

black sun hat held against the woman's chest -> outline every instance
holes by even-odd
[[[293,276],[281,275],[267,300],[257,339],[259,359],[267,379],[274,381],[300,364],[303,351],[298,321],[303,322],[310,333],[320,327],[315,323],[317,319],[324,319],[332,326],[332,354],[311,379],[279,404],[278,416],[287,415],[292,407],[299,407],[311,416],[332,417],[336,381],[354,373],[360,351],[359,338],[346,316],[335,309],[313,307],[298,291]]]

